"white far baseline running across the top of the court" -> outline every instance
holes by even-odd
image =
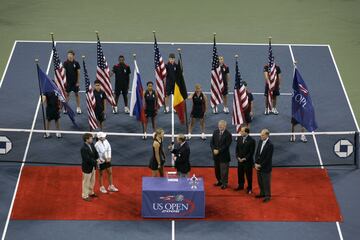
[[[16,40],[16,42],[24,42],[24,43],[51,43],[51,41],[46,40]],[[97,41],[56,41],[57,43],[80,43],[80,44],[95,44]],[[104,44],[154,44],[154,42],[127,42],[127,41],[101,41]],[[174,45],[213,45],[213,42],[158,42],[158,44],[174,44]],[[234,46],[268,46],[269,43],[216,43],[217,45],[234,45]],[[327,47],[328,44],[306,44],[306,43],[293,43],[293,46],[302,46],[302,47]],[[289,43],[272,43],[272,46],[289,46]]]

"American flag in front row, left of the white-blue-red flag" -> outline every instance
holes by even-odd
[[[94,97],[93,89],[91,87],[89,75],[87,73],[87,69],[86,69],[84,60],[83,60],[83,67],[84,67],[84,78],[85,78],[86,106],[87,106],[87,111],[88,111],[88,116],[89,116],[89,126],[90,126],[91,130],[95,130],[95,129],[99,128],[99,124],[98,124],[98,121],[96,119],[95,112],[94,112],[95,97]]]

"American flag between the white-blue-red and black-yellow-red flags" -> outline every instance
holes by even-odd
[[[156,94],[158,98],[158,106],[161,107],[165,103],[165,87],[164,81],[166,76],[166,68],[162,56],[157,45],[156,37],[154,36],[154,62],[155,62],[155,77],[156,77]]]

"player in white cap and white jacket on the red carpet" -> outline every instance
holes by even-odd
[[[106,139],[106,134],[99,132],[97,134],[98,141],[95,143],[96,151],[99,154],[100,164],[99,164],[99,183],[100,183],[100,192],[107,193],[119,191],[113,184],[112,177],[112,168],[111,168],[111,146],[109,141]],[[104,170],[107,173],[109,187],[104,187],[103,172]]]

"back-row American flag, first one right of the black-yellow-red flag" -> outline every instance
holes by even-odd
[[[223,102],[222,100],[222,90],[224,88],[224,83],[222,80],[221,67],[219,64],[219,56],[217,54],[216,48],[216,39],[214,37],[214,46],[213,46],[213,58],[211,66],[211,107],[214,108],[216,105]]]

